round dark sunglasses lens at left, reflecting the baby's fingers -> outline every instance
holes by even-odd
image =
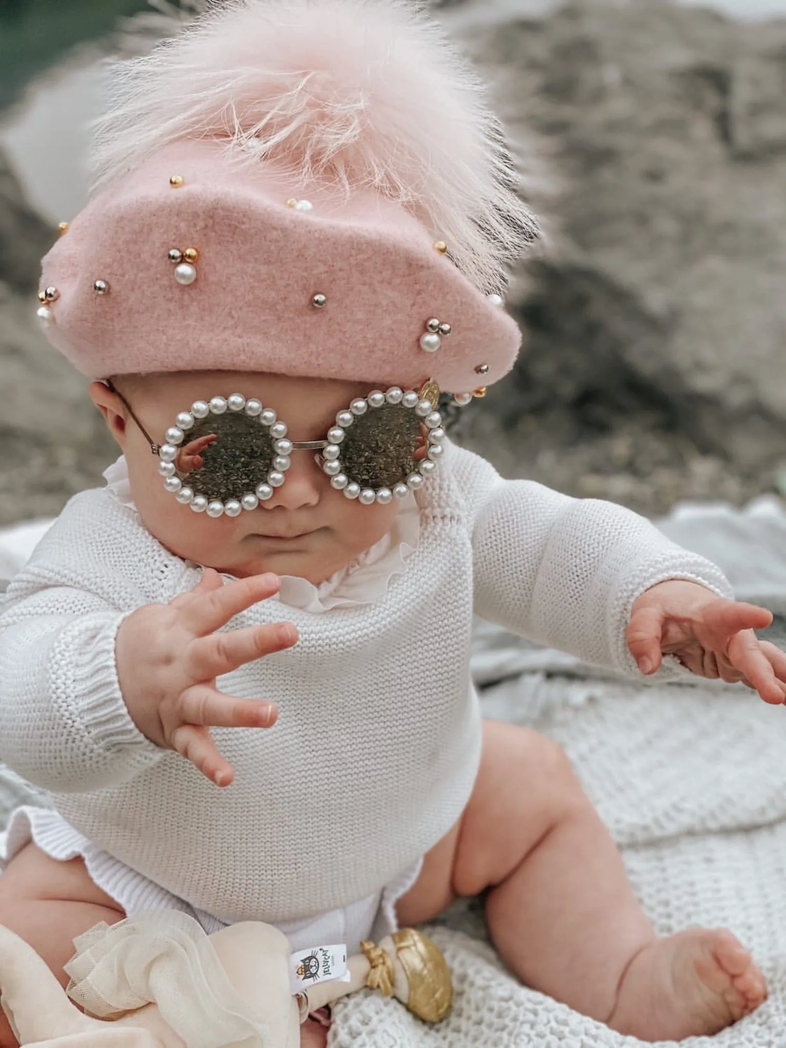
[[[276,451],[267,429],[242,412],[210,415],[189,430],[176,460],[178,473],[209,500],[241,499],[264,483]]]

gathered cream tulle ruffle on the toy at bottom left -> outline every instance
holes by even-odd
[[[155,1001],[188,1048],[276,1048],[264,1016],[233,988],[201,926],[176,911],[139,914],[74,939],[68,996],[96,1019]]]

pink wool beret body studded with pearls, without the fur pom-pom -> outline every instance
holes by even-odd
[[[271,165],[177,143],[45,257],[47,334],[94,378],[223,369],[471,391],[510,369],[521,336],[441,246],[373,191],[296,198]]]

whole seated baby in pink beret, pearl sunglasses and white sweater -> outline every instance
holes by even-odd
[[[751,1011],[737,939],[658,938],[559,747],[480,719],[474,612],[772,703],[786,656],[645,520],[447,439],[440,387],[514,363],[494,289],[532,234],[472,74],[392,0],[245,0],[125,67],[100,130],[40,314],[123,457],[0,614],[0,758],[53,805],[14,813],[0,923],[64,978],[143,911],[355,952],[487,891],[509,968],[615,1030]]]

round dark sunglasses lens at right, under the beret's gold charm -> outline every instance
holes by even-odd
[[[361,487],[393,487],[415,468],[422,446],[421,419],[408,408],[386,403],[356,417],[341,443],[344,472]]]

